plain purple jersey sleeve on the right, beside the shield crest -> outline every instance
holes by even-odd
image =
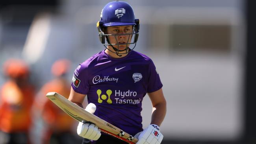
[[[149,63],[149,78],[148,78],[148,88],[147,92],[155,92],[163,87],[161,83],[160,76],[156,70],[156,66],[153,61],[150,59]]]

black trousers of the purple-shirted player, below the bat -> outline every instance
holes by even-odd
[[[118,138],[111,137],[109,135],[101,135],[98,140],[90,141],[86,138],[83,138],[82,144],[128,144]]]

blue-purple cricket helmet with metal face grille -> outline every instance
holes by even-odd
[[[135,19],[134,11],[132,9],[132,6],[130,6],[130,4],[122,1],[109,2],[108,4],[106,4],[106,6],[103,7],[100,15],[100,21],[98,21],[97,23],[100,42],[105,47],[107,45],[112,46],[112,48],[115,50],[114,53],[116,53],[117,55],[121,51],[126,51],[126,53],[130,52],[128,51],[128,47],[126,47],[126,50],[119,50],[118,48],[114,48],[113,45],[119,45],[119,44],[110,44],[108,40],[109,34],[104,33],[104,27],[106,28],[108,26],[130,26],[130,25],[132,25],[134,28],[133,33],[130,33],[130,35],[132,35],[131,37],[133,37],[133,35],[135,36],[133,37],[133,41],[131,41],[130,43],[128,42],[125,43],[126,46],[128,44],[136,45],[136,42],[139,36],[139,19]],[[122,34],[119,34],[119,35],[122,35]],[[117,34],[114,36],[117,36]],[[130,50],[133,50],[134,48]],[[126,54],[126,53],[122,53],[122,54]]]

